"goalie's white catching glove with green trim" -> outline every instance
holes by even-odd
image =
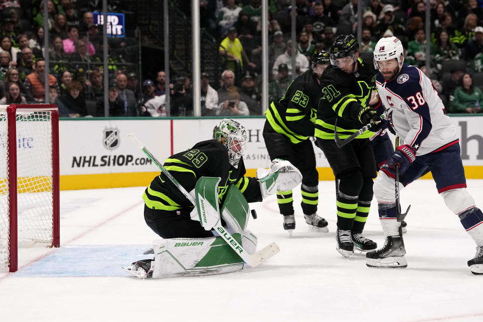
[[[260,182],[262,197],[273,195],[280,191],[295,188],[302,181],[302,174],[289,161],[274,159],[270,169],[258,169],[257,178]]]

